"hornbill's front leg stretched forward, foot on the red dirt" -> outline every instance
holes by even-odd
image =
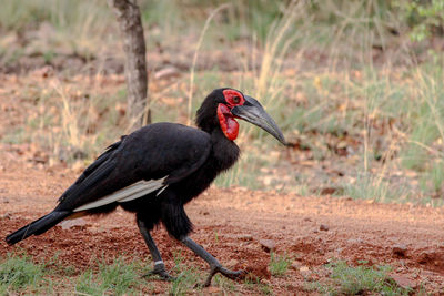
[[[244,275],[243,271],[230,271],[223,267],[216,258],[214,258],[210,253],[208,253],[201,245],[196,244],[193,239],[190,237],[185,236],[184,238],[181,239],[181,242],[189,247],[191,251],[193,251],[196,255],[199,255],[202,259],[204,259],[208,264],[210,264],[210,274],[206,277],[205,283],[203,284],[204,287],[208,287],[211,285],[211,279],[216,273],[221,273],[222,275],[226,276],[228,278],[231,279],[236,279]]]

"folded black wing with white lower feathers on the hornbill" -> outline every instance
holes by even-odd
[[[211,151],[210,135],[171,123],[151,124],[111,145],[60,197],[73,212],[123,203],[183,180]]]

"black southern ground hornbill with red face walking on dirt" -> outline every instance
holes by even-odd
[[[198,110],[199,129],[154,123],[122,136],[84,170],[51,213],[7,236],[7,243],[12,245],[42,234],[64,218],[109,213],[120,205],[135,213],[154,261],[152,274],[171,279],[150,235],[162,223],[170,235],[209,263],[204,286],[216,273],[240,277],[242,271],[224,268],[188,236],[192,224],[183,208],[238,160],[239,147],[233,142],[239,131],[235,119],[262,127],[285,144],[282,132],[256,100],[233,89],[214,90]]]

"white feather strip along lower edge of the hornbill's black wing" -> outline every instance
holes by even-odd
[[[103,206],[111,203],[124,203],[129,201],[133,201],[135,198],[142,197],[151,192],[154,192],[161,187],[163,187],[157,195],[159,195],[168,185],[164,185],[163,182],[165,177],[158,178],[158,180],[148,180],[148,181],[139,181],[134,184],[131,184],[120,191],[111,193],[110,195],[103,196],[102,198],[84,204],[74,208],[73,212],[85,211],[99,206]]]

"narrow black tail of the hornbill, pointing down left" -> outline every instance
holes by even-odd
[[[7,243],[13,245],[31,235],[39,235],[56,226],[60,221],[72,214],[70,211],[52,211],[48,215],[42,216],[39,220],[21,227],[14,233],[7,236]]]

